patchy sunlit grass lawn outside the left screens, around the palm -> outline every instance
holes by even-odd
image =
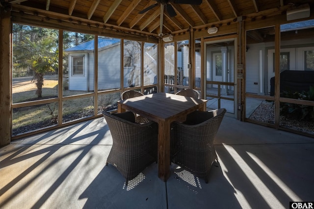
[[[37,87],[31,82],[31,77],[17,80],[12,85],[13,103],[37,100]],[[63,90],[63,95],[75,95],[86,92]],[[56,98],[58,96],[58,81],[54,78],[44,80],[42,98]],[[63,121],[82,118],[93,115],[93,97],[79,98],[64,101]],[[43,105],[34,105],[23,108],[14,108],[12,114],[12,133],[13,135],[44,128],[57,124],[58,103],[52,102]]]

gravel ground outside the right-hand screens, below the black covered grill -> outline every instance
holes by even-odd
[[[252,120],[274,124],[275,107],[273,102],[263,101],[249,117]],[[299,121],[280,116],[280,126],[314,134],[314,121]]]

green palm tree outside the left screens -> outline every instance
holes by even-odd
[[[33,42],[26,38],[26,41],[21,42],[21,45],[16,48],[17,62],[14,67],[34,72],[32,82],[35,82],[37,87],[38,98],[42,97],[44,75],[58,69],[58,51],[55,41],[49,37]]]

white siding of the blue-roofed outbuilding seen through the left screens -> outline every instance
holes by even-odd
[[[84,48],[87,46],[78,46],[78,48]],[[95,79],[95,54],[94,50],[79,50],[73,49],[69,51],[69,90],[79,91],[94,91],[94,79]],[[78,50],[78,51],[74,51]],[[155,50],[156,51],[156,50]],[[157,52],[157,51],[156,51]],[[153,54],[156,54],[153,52]],[[72,60],[73,56],[84,56],[84,74],[72,75]],[[140,85],[140,63],[141,54],[136,53],[133,55],[134,71],[133,67],[124,68],[124,87],[131,85]],[[145,56],[148,56],[145,54]],[[156,73],[150,70],[150,67],[157,70],[157,61],[150,57],[146,59],[145,66],[145,78],[146,84],[157,83]],[[134,76],[132,76],[134,75]],[[98,50],[98,90],[108,90],[120,88],[121,78],[121,47],[120,42],[103,46]],[[131,79],[131,80],[130,80]]]

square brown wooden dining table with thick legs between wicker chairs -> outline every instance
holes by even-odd
[[[118,112],[126,110],[158,123],[158,177],[167,181],[170,176],[170,124],[187,114],[206,111],[205,99],[152,93],[118,101]]]

